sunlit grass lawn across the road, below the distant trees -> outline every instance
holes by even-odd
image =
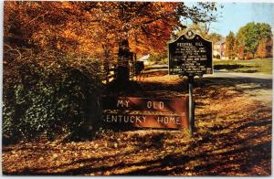
[[[272,58],[253,59],[214,59],[215,69],[223,69],[236,72],[266,73],[272,74]]]

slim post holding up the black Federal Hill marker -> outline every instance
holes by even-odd
[[[190,134],[195,132],[195,106],[193,98],[194,76],[188,76]]]

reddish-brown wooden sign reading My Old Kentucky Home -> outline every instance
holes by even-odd
[[[121,102],[123,100],[124,102]],[[149,103],[150,102],[150,103]],[[157,108],[153,109],[153,102],[156,103]],[[163,102],[163,108],[161,109],[161,103]],[[102,109],[101,120],[107,125],[123,125],[138,128],[156,128],[156,129],[175,129],[182,130],[184,128],[189,129],[189,101],[187,97],[179,99],[166,99],[166,98],[142,98],[142,97],[127,97],[127,96],[101,96],[100,104]],[[150,106],[147,106],[150,104]],[[160,106],[159,106],[160,105]],[[150,108],[149,108],[150,107]],[[109,122],[106,115],[116,116],[120,122]],[[118,116],[118,117],[117,117]],[[133,120],[133,116],[142,116],[146,120],[140,122],[121,122],[125,116],[130,116]],[[169,122],[163,122],[159,120],[167,120]],[[113,118],[113,117],[111,117]],[[179,118],[179,123],[174,123],[173,119]],[[127,119],[129,120],[129,119]]]

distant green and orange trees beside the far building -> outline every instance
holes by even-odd
[[[226,37],[227,58],[269,58],[272,57],[272,31],[266,23],[248,23],[235,35],[230,32]]]

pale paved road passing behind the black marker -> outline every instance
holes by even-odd
[[[165,66],[159,67],[161,67],[161,71],[163,71],[163,67]],[[165,73],[163,74],[166,73],[167,69],[165,68]],[[180,79],[176,75],[162,75],[161,77],[156,76],[145,79],[145,81],[148,82],[157,80],[162,81],[163,83],[176,83]],[[212,75],[204,75],[203,80],[206,80],[211,84],[216,83],[220,85],[234,86],[235,89],[242,90],[249,99],[262,101],[267,103],[269,106],[272,104],[272,75],[264,73],[238,73],[215,70]]]

